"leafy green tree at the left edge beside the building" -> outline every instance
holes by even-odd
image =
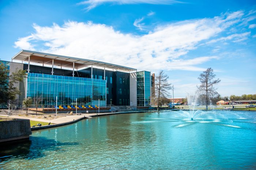
[[[26,70],[18,70],[10,73],[7,67],[0,63],[0,104],[11,105],[16,101],[19,90],[14,86],[23,81],[26,76]]]

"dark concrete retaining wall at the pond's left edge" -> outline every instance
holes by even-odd
[[[0,117],[0,143],[29,138],[31,135],[29,119]]]

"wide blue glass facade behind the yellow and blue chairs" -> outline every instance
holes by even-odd
[[[28,73],[26,97],[42,97],[42,107],[56,105],[106,105],[106,81],[93,78]]]

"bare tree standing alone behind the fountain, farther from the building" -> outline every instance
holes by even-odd
[[[215,76],[216,75],[213,73],[213,69],[208,68],[198,77],[201,85],[197,86],[197,89],[199,90],[199,93],[206,99],[206,110],[208,110],[209,98],[218,95],[218,92],[216,91],[217,88],[215,88],[214,85],[217,85],[221,80],[219,80],[219,78],[214,80]]]

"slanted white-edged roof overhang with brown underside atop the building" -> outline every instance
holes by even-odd
[[[130,67],[110,64],[110,63],[101,62],[101,61],[67,57],[63,55],[41,53],[41,52],[29,51],[29,50],[21,50],[18,54],[12,57],[12,60],[28,62],[29,56],[30,56],[30,62],[33,62],[33,63],[52,65],[52,61],[54,60],[53,62],[54,66],[67,67],[70,69],[73,69],[73,63],[74,63],[75,69],[82,69],[84,67],[93,66],[93,67],[101,67],[101,68],[105,67],[106,69],[111,69],[111,70],[113,69],[121,72],[132,72],[136,70]]]

